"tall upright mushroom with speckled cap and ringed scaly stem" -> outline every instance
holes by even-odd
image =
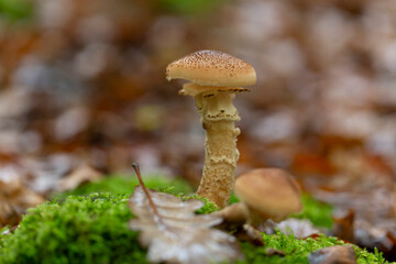
[[[240,120],[232,105],[235,92],[248,91],[240,86],[254,85],[256,75],[248,63],[217,51],[200,51],[173,62],[166,68],[166,78],[186,79],[179,91],[193,96],[206,130],[205,164],[197,194],[220,208],[228,205],[234,185],[237,136]]]

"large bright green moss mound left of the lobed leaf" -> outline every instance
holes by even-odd
[[[128,228],[128,198],[70,196],[29,210],[18,229],[0,240],[0,263],[145,263],[138,232]]]

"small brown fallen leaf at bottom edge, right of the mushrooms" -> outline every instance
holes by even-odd
[[[356,256],[352,245],[334,245],[308,255],[309,264],[354,264]]]

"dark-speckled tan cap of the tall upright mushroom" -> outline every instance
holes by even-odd
[[[218,51],[199,51],[166,67],[166,79],[186,79],[200,86],[237,87],[256,81],[254,68],[240,58]]]

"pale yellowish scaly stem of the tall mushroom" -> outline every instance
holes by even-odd
[[[213,201],[218,207],[228,205],[234,186],[239,152],[234,128],[239,121],[237,108],[232,105],[231,91],[202,92],[196,96],[198,112],[206,130],[205,164],[197,194]]]

